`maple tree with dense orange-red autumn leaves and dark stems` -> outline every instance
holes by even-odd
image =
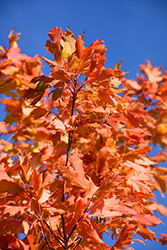
[[[167,244],[150,229],[162,223],[155,211],[167,215],[154,194],[167,192],[167,71],[147,61],[127,79],[121,62],[104,67],[103,41],[85,47],[84,34],[57,27],[54,60],[32,58],[13,32],[0,46],[0,249],[133,249],[134,235]]]

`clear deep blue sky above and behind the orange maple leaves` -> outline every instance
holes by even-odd
[[[53,59],[45,50],[47,33],[55,26],[63,31],[69,27],[75,36],[86,31],[85,46],[96,39],[105,42],[106,67],[125,59],[122,70],[129,71],[128,78],[136,78],[145,59],[167,70],[167,0],[1,0],[0,6],[0,45],[5,47],[9,30],[16,27],[22,53]],[[48,74],[49,68],[43,72]],[[159,195],[158,201],[167,205]],[[162,219],[167,225],[167,219]],[[167,226],[161,225],[156,232],[167,233]],[[134,248],[145,249],[141,243]],[[166,246],[147,241],[147,250],[157,248]]]

